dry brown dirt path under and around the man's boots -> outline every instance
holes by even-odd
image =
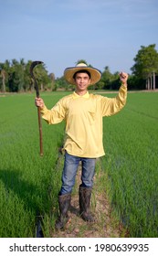
[[[119,238],[124,236],[124,229],[111,216],[111,206],[105,194],[100,194],[94,185],[90,211],[95,216],[94,223],[85,222],[79,217],[79,184],[81,167],[76,177],[76,186],[71,197],[69,220],[64,230],[52,230],[52,238]],[[96,177],[95,177],[96,178]],[[94,182],[95,184],[95,182]]]

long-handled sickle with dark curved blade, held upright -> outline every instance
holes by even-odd
[[[37,80],[34,76],[34,68],[38,65],[38,64],[42,64],[42,61],[33,61],[31,63],[30,66],[30,74],[31,77],[33,78],[34,82],[35,82],[35,90],[37,91],[37,98],[39,98],[39,88],[38,88],[38,84],[37,84]],[[43,155],[43,144],[42,144],[42,124],[41,124],[41,114],[40,114],[40,109],[39,107],[37,107],[37,116],[38,116],[38,127],[39,127],[39,145],[40,145],[40,155]]]

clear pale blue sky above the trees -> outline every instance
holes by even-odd
[[[41,60],[56,78],[79,59],[132,73],[151,44],[158,50],[157,0],[0,0],[0,62]]]

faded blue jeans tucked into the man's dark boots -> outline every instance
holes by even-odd
[[[62,186],[59,195],[71,193],[75,185],[75,178],[78,171],[79,162],[81,161],[81,186],[92,187],[93,177],[95,174],[96,158],[79,157],[65,153],[64,169],[62,173]]]

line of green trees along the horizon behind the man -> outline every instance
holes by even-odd
[[[141,46],[135,56],[132,74],[129,75],[128,87],[130,90],[155,90],[158,88],[158,52],[156,45]],[[77,61],[86,62],[84,59]],[[32,61],[24,59],[17,61],[5,60],[0,62],[0,91],[23,92],[34,91],[34,80],[30,76]],[[88,66],[92,67],[90,64]],[[34,70],[40,91],[73,90],[73,85],[68,84],[63,77],[56,78],[55,74],[47,72],[45,64],[38,65]],[[101,79],[95,85],[90,86],[93,90],[118,90],[120,87],[119,71],[111,73],[109,66],[102,71]]]

